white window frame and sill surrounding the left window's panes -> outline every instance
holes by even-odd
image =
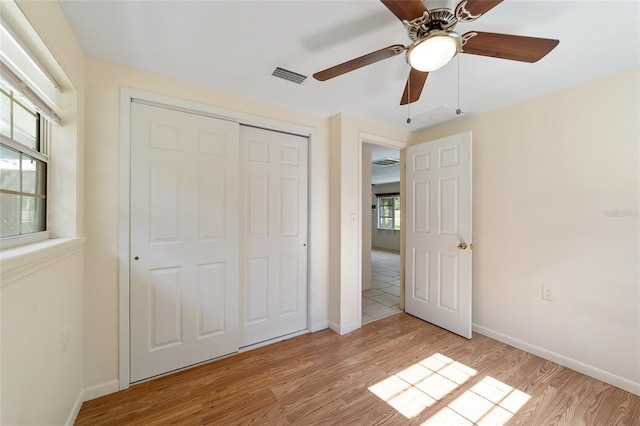
[[[49,122],[49,146],[45,153],[49,160],[48,231],[0,239],[0,269],[4,279],[12,269],[20,269],[22,274],[26,265],[39,268],[39,263],[48,261],[51,253],[66,250],[70,242],[85,240],[79,110],[85,90],[82,64],[74,56],[79,45],[74,42],[67,46],[55,37],[49,40],[52,43],[45,41],[38,30],[47,26],[44,15],[31,16],[33,11],[25,14],[13,0],[3,2],[2,11],[0,75],[20,99],[33,105]],[[36,21],[29,17],[35,17]]]

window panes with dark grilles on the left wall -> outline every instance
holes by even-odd
[[[48,125],[0,80],[0,237],[46,230]]]

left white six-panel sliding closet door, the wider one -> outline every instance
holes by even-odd
[[[131,382],[238,349],[238,132],[131,106]]]

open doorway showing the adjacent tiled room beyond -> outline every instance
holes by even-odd
[[[401,312],[400,150],[362,145],[362,324]]]

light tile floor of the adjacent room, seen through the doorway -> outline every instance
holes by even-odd
[[[401,312],[400,253],[371,249],[371,289],[362,292],[362,324]]]

